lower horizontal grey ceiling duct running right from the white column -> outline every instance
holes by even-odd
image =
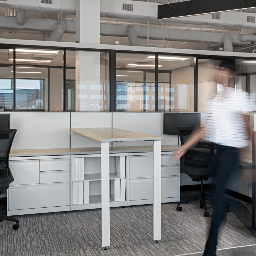
[[[126,36],[125,25],[100,24],[100,35],[104,36]],[[148,30],[144,26],[135,26],[135,31],[138,38],[147,39]],[[224,33],[201,32],[189,30],[172,30],[149,27],[149,38],[153,40],[167,41],[183,41],[183,42],[199,42],[199,43],[216,43],[222,44]],[[233,45],[248,45],[251,41],[239,41],[237,34],[228,34]],[[254,37],[256,40],[256,36]],[[253,41],[254,41],[253,40]]]

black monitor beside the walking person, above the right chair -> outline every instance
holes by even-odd
[[[164,113],[164,134],[179,134],[177,127],[200,126],[200,113]]]

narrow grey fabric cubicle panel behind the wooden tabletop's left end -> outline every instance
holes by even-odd
[[[71,128],[111,127],[112,113],[71,112]],[[72,132],[73,133],[73,132]],[[100,147],[100,142],[83,135],[71,134],[71,148]]]

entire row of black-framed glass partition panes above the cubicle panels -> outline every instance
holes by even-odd
[[[256,100],[254,58],[212,57],[3,46],[0,112],[203,112],[225,83]],[[220,83],[223,60],[236,76]]]

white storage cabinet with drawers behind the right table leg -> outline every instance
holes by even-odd
[[[162,152],[162,203],[180,201],[179,160],[174,152]],[[150,153],[129,154],[129,199],[128,205],[153,203],[153,155]]]

